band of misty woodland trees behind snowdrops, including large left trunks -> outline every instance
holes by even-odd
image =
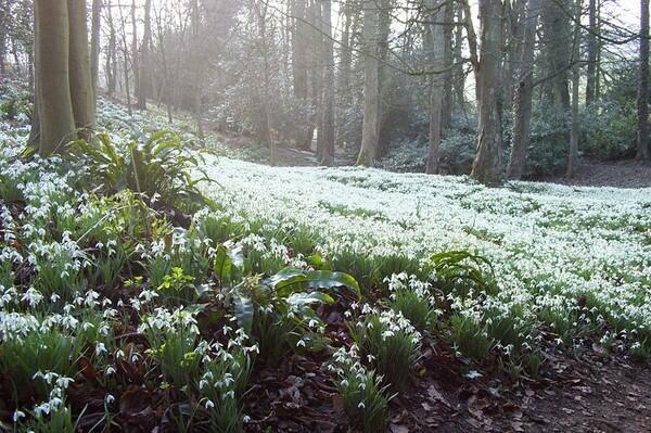
[[[637,29],[616,8],[0,0],[0,75],[34,88],[33,141],[43,154],[92,129],[104,92],[130,111],[164,106],[169,122],[189,111],[200,137],[251,135],[271,164],[290,144],[323,165],[339,154],[372,166],[421,140],[427,173],[448,173],[465,152],[464,169],[497,184],[529,175],[533,161],[573,176],[582,151],[651,157],[649,1],[639,2]]]

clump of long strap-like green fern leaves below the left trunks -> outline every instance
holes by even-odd
[[[71,144],[73,156],[92,167],[89,177],[103,191],[129,189],[154,201],[159,198],[167,207],[195,208],[206,204],[197,184],[208,179],[192,178],[190,170],[201,171],[201,161],[184,149],[177,135],[165,130],[124,147],[112,142],[107,133],[98,133],[90,142],[78,140]]]

